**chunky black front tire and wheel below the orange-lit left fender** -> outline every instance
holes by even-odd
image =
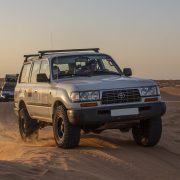
[[[80,128],[69,123],[66,108],[62,105],[55,109],[53,132],[58,147],[72,149],[79,145]]]

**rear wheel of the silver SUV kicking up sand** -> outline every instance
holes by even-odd
[[[19,111],[19,132],[23,141],[38,139],[39,123],[31,119],[25,108]]]

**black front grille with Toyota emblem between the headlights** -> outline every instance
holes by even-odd
[[[102,104],[132,103],[141,101],[138,89],[123,89],[104,91],[102,93]]]

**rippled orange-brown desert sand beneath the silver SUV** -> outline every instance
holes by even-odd
[[[138,147],[131,132],[83,135],[80,147],[58,149],[52,129],[23,143],[12,103],[0,103],[0,179],[180,179],[180,91],[163,90],[167,114],[158,146]]]

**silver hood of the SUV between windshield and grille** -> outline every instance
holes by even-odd
[[[114,75],[73,77],[61,79],[57,82],[57,86],[59,86],[59,88],[64,88],[67,91],[111,90],[154,85],[156,85],[156,83],[153,80]]]

